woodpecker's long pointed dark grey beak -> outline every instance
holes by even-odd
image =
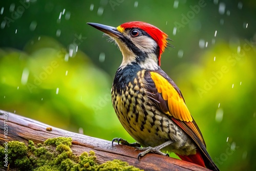
[[[106,25],[101,25],[101,24],[97,24],[97,23],[87,23],[90,26],[110,35],[113,37],[123,37],[122,33],[120,33],[115,27],[111,27],[111,26],[106,26]]]

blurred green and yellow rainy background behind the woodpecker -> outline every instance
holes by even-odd
[[[174,40],[161,67],[182,91],[212,159],[221,170],[255,170],[255,16],[254,0],[2,1],[0,109],[134,142],[111,103],[121,53],[86,23],[141,20]]]

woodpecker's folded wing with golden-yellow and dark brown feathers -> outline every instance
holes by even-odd
[[[145,73],[147,91],[159,110],[172,119],[188,134],[202,151],[206,151],[202,133],[187,109],[183,96],[173,82],[162,70]],[[206,152],[207,153],[207,152]],[[207,156],[207,155],[206,155]]]

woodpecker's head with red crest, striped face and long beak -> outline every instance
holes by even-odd
[[[115,40],[123,55],[121,68],[136,62],[142,69],[156,70],[164,49],[169,45],[167,34],[148,23],[127,22],[118,27],[87,24]]]

